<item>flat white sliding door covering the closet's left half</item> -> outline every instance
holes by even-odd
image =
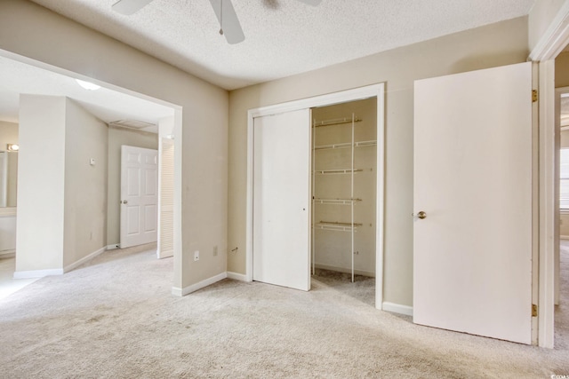
[[[310,289],[310,110],[253,121],[253,280]]]

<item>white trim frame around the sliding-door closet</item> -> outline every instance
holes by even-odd
[[[377,208],[375,242],[375,308],[383,303],[383,222],[384,222],[384,157],[385,157],[385,84],[378,83],[348,91],[334,92],[308,99],[293,100],[247,112],[247,217],[245,242],[245,280],[252,281],[252,203],[253,203],[253,119],[270,114],[324,107],[361,99],[377,99]],[[307,125],[309,128],[310,125]],[[309,191],[309,188],[307,188]]]

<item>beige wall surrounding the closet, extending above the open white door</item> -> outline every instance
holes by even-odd
[[[413,305],[413,81],[525,61],[527,18],[444,36],[229,93],[228,271],[245,272],[247,110],[386,86],[384,300]],[[465,89],[468,91],[468,89]]]

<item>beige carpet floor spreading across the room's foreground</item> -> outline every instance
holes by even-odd
[[[108,251],[0,300],[0,377],[569,375],[566,344],[547,350],[416,326],[349,289],[369,291],[365,281],[324,274],[302,292],[222,280],[175,297],[171,259]]]

